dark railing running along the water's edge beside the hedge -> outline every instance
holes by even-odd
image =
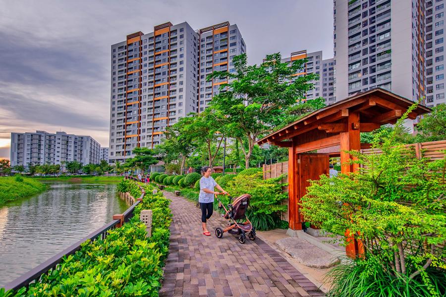
[[[128,177],[126,176],[125,179],[131,179],[139,181],[137,178],[134,177]],[[81,248],[81,245],[85,243],[88,240],[94,241],[98,238],[104,240],[107,238],[109,231],[114,228],[121,227],[125,222],[128,222],[132,216],[133,216],[133,210],[135,207],[141,203],[142,199],[144,198],[144,195],[146,194],[144,188],[139,186],[141,189],[141,196],[136,199],[135,203],[133,203],[127,210],[125,210],[122,214],[115,214],[113,215],[113,220],[108,223],[107,225],[99,228],[98,230],[94,231],[93,233],[89,234],[87,237],[79,240],[75,244],[65,248],[61,252],[57,253],[50,259],[46,260],[42,264],[38,265],[37,267],[31,269],[27,273],[23,274],[22,276],[16,278],[12,282],[6,284],[4,286],[5,290],[18,290],[22,287],[28,287],[29,284],[31,284],[34,281],[40,280],[41,276],[48,273],[50,270],[55,269],[57,265],[62,261],[62,258],[64,256],[69,256],[71,254],[74,254],[76,251],[78,251]]]

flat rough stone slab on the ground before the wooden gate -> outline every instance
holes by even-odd
[[[302,238],[282,238],[276,241],[276,244],[299,263],[308,267],[329,268],[339,263],[336,256]]]

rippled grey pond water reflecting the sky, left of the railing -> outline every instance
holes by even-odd
[[[0,288],[128,207],[116,184],[50,185],[45,193],[0,207]]]

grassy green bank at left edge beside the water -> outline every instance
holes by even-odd
[[[23,181],[16,181],[15,177],[0,177],[0,205],[6,201],[25,198],[34,194],[41,193],[47,189],[34,178],[23,178]]]

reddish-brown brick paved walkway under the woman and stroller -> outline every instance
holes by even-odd
[[[215,228],[227,222],[214,212],[204,236],[195,203],[164,192],[172,199],[170,248],[160,296],[324,296],[277,251],[260,239],[237,238]]]

